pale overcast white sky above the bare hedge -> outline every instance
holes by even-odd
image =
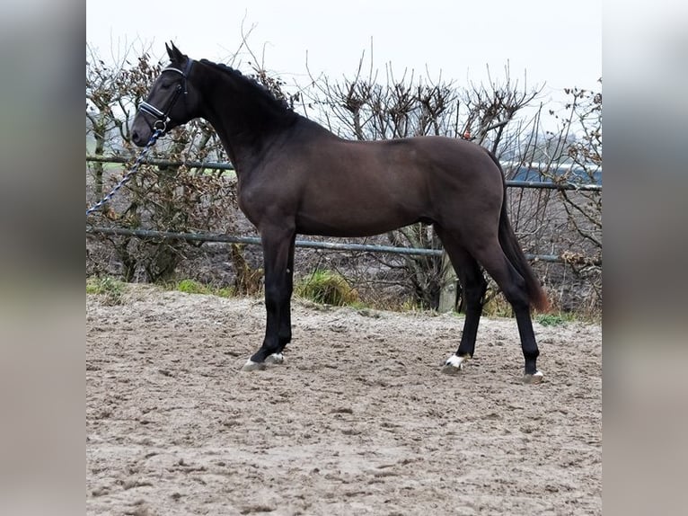
[[[602,76],[601,0],[86,2],[86,41],[102,58],[132,46],[164,58],[173,40],[192,58],[227,62],[242,27],[263,65],[287,83],[305,83],[306,62],[315,76],[353,77],[363,52],[370,66],[371,49],[378,70],[428,70],[459,85],[480,83],[488,66],[503,76],[507,63],[519,84],[527,74],[547,95],[598,87]]]

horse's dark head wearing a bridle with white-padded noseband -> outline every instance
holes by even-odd
[[[165,44],[170,66],[163,69],[155,80],[146,102],[141,102],[131,126],[131,139],[138,147],[144,147],[154,129],[163,133],[196,118],[195,106],[198,94],[190,87],[189,77],[193,59],[181,53],[172,43]]]

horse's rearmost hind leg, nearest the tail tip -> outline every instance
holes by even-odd
[[[497,282],[504,297],[514,308],[518,334],[521,338],[521,348],[525,358],[525,383],[539,383],[542,372],[537,369],[537,357],[540,351],[535,342],[533,322],[530,316],[530,300],[525,288],[525,280],[514,268],[499,245],[495,236],[487,243],[476,245],[473,255],[481,263],[490,276]]]

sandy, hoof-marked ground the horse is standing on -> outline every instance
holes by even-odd
[[[601,514],[602,332],[295,302],[286,362],[241,372],[260,300],[86,299],[87,514]]]

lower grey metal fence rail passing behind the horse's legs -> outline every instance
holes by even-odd
[[[136,236],[150,239],[179,239],[193,242],[221,242],[226,244],[260,245],[257,236],[233,236],[219,233],[174,233],[172,231],[154,231],[151,229],[126,229],[124,227],[86,227],[86,233],[92,235]],[[420,249],[415,247],[397,247],[392,245],[341,244],[335,242],[317,242],[313,240],[296,240],[296,247],[323,249],[325,251],[359,251],[366,253],[410,254],[414,256],[441,256],[441,249]],[[525,254],[533,262],[578,263],[602,265],[601,260],[585,256],[557,254]]]

